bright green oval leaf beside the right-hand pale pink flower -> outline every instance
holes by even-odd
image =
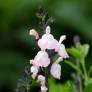
[[[72,47],[72,48],[68,48],[67,51],[69,54],[76,57],[77,59],[81,58],[81,53],[78,49]]]

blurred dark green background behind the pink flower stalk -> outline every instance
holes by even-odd
[[[55,38],[67,35],[66,47],[73,46],[75,35],[80,36],[82,43],[90,44],[87,69],[92,64],[92,0],[0,0],[0,92],[14,92],[26,62],[39,50],[29,30],[42,32],[36,18],[40,5],[54,19]],[[62,80],[67,80],[72,71],[64,66]]]

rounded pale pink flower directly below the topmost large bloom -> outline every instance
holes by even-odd
[[[39,51],[34,60],[30,60],[30,63],[37,67],[47,67],[50,64],[50,59],[46,51]]]

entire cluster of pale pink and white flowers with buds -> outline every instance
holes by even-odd
[[[47,92],[48,88],[46,87],[46,76],[41,74],[40,71],[42,69],[49,67],[50,74],[56,78],[60,79],[61,77],[61,65],[60,62],[63,59],[68,58],[68,54],[66,52],[65,46],[62,43],[63,40],[66,39],[66,36],[63,35],[60,37],[60,40],[57,41],[53,35],[51,34],[50,26],[47,26],[45,29],[45,33],[40,38],[39,33],[32,29],[30,30],[30,35],[34,36],[37,40],[37,44],[40,47],[40,51],[34,57],[34,59],[30,60],[31,64],[31,73],[32,78],[38,80],[41,85],[41,92]],[[49,51],[49,52],[48,52]],[[54,52],[54,54],[58,54],[57,60],[55,62],[51,61],[50,52]]]

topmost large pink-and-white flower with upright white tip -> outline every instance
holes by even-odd
[[[50,26],[46,27],[45,34],[42,36],[41,39],[38,40],[38,46],[42,49],[55,49],[58,50],[58,41],[54,39],[53,35],[50,34]]]

